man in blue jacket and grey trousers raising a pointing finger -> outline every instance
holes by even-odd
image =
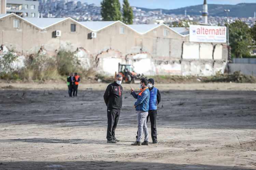
[[[134,89],[131,88],[132,96],[137,99],[137,102],[134,103],[134,107],[136,108],[138,119],[138,138],[135,143],[131,144],[133,146],[148,145],[147,116],[150,101],[150,91],[148,90],[147,84],[148,80],[146,78],[142,78],[140,82],[139,94],[136,94]],[[144,142],[141,143],[143,131],[145,139]]]

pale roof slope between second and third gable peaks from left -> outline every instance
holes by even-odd
[[[115,22],[117,21],[83,21],[79,23],[91,30],[98,31],[102,28],[105,28],[114,24]]]

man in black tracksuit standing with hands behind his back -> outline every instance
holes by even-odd
[[[104,101],[108,107],[108,129],[106,136],[108,143],[117,143],[120,141],[115,137],[115,129],[123,103],[123,87],[121,86],[122,80],[122,75],[116,75],[115,82],[109,84],[104,93]]]

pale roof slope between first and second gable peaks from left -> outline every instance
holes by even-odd
[[[63,21],[67,18],[24,18],[31,24],[43,29],[46,27],[49,27],[51,25],[54,25],[60,21]]]

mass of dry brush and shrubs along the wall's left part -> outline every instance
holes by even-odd
[[[30,55],[25,62],[25,67],[19,71],[11,71],[11,63],[17,59],[13,53],[2,57],[0,60],[0,78],[4,80],[28,80],[44,81],[47,79],[63,79],[70,73],[77,72],[81,78],[94,77],[94,68],[83,69],[80,61],[74,55],[75,52],[60,50],[55,57],[46,55]],[[4,71],[4,72],[3,72]],[[65,77],[65,78],[63,78]]]

